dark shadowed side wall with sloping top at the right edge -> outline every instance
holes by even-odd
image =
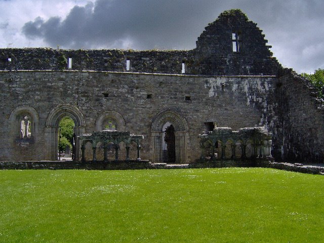
[[[283,159],[323,163],[324,101],[316,98],[311,83],[293,72],[282,70],[275,88],[278,139],[275,153]],[[281,150],[281,151],[280,151]]]

